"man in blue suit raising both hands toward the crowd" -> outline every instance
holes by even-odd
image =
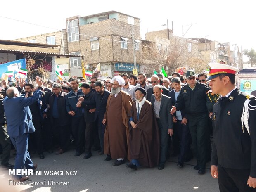
[[[28,94],[26,94],[26,96],[19,96],[17,88],[11,87],[7,89],[7,97],[5,97],[3,102],[7,119],[7,133],[17,150],[14,166],[15,170],[23,169],[24,166],[27,169],[33,170],[37,168],[37,165],[33,164],[33,161],[30,159],[28,152],[28,133],[35,131],[28,106],[36,102],[42,95],[42,91],[40,90],[42,82],[39,77],[36,77],[36,82],[39,87],[32,97],[26,98]],[[25,181],[29,178],[28,176],[22,177],[22,175],[17,175],[17,177],[17,180],[20,181]]]

